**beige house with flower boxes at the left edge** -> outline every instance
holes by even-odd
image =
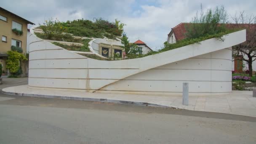
[[[20,47],[23,53],[26,54],[27,51],[27,25],[34,24],[16,14],[5,10],[0,7],[0,64],[3,65],[3,72],[7,72],[6,69],[6,59],[7,51],[11,51],[11,46]],[[16,32],[13,32],[13,29]],[[16,34],[21,32],[19,34]],[[22,67],[23,72],[26,71]]]

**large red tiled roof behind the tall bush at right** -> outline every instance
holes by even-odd
[[[176,27],[172,28],[176,40],[182,40],[186,38],[185,34],[187,32],[186,27],[191,27],[192,23],[180,23]],[[228,29],[234,28],[245,28],[246,40],[251,40],[255,38],[256,24],[225,24]]]

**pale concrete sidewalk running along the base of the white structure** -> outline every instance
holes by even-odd
[[[189,105],[182,105],[182,96],[87,93],[83,90],[35,88],[19,85],[2,89],[5,94],[45,98],[101,101],[121,104],[173,107],[204,112],[220,112],[256,117],[256,98],[252,91],[232,91],[222,96],[189,96]]]

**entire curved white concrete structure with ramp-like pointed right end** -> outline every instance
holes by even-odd
[[[101,93],[181,94],[189,83],[195,95],[232,91],[231,46],[245,41],[245,30],[138,59],[100,61],[67,51],[31,31],[29,86]]]

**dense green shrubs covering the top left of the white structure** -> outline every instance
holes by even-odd
[[[85,19],[77,19],[74,21],[60,22],[57,19],[49,19],[41,25],[41,29],[45,35],[45,39],[56,40],[62,39],[63,33],[69,33],[79,37],[95,37],[116,39],[122,36],[125,24],[117,19],[115,22],[109,22],[102,18],[94,18],[93,21]]]

